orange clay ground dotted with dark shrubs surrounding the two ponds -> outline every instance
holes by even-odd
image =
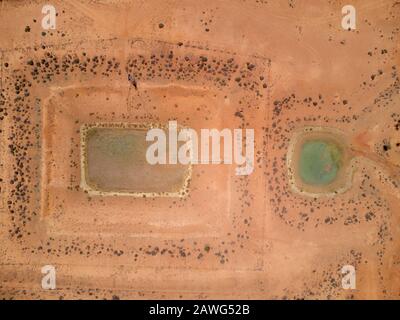
[[[400,297],[397,1],[353,1],[353,31],[343,1],[51,4],[44,31],[41,1],[0,1],[1,298]],[[254,172],[194,165],[178,197],[82,188],[83,126],[169,120],[254,129]],[[306,127],[341,132],[348,189],[293,188]]]

